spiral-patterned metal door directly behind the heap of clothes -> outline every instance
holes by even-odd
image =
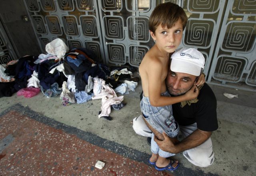
[[[42,51],[56,38],[70,49],[86,47],[104,59],[96,0],[24,0]]]

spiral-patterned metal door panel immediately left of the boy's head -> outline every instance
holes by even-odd
[[[140,65],[153,42],[148,19],[154,5],[150,0],[99,2],[106,63]]]

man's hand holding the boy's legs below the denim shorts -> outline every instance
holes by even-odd
[[[166,133],[162,133],[164,136],[164,140],[160,141],[159,139],[154,136],[154,141],[156,141],[157,145],[162,149],[163,151],[169,152],[169,153],[176,153],[175,144],[178,143],[178,139],[176,138],[170,138]]]

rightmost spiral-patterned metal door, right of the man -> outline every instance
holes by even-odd
[[[223,14],[208,82],[256,90],[256,2],[230,0]]]

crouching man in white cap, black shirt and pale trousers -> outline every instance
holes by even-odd
[[[172,96],[185,94],[196,83],[198,72],[204,66],[192,58],[189,49],[180,49],[172,55],[166,86]],[[202,64],[201,64],[202,65]],[[203,64],[204,65],[204,64]],[[195,74],[196,73],[196,74]],[[162,133],[163,138],[154,140],[160,149],[169,153],[183,152],[185,158],[196,166],[207,167],[214,162],[211,134],[218,129],[216,98],[211,88],[205,83],[199,88],[199,95],[194,100],[172,105],[175,121],[180,126],[178,140]],[[138,135],[151,137],[156,129],[148,127],[142,115],[133,119],[133,129]]]

